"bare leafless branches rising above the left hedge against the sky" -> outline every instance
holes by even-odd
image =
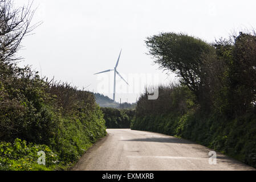
[[[42,24],[31,25],[35,14],[35,10],[31,10],[32,3],[15,8],[13,0],[0,0],[0,60],[5,63],[20,59],[15,53],[21,48],[22,39]]]

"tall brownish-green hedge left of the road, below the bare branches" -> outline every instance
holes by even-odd
[[[46,145],[58,155],[55,167],[67,167],[105,135],[103,113],[92,93],[76,90],[68,84],[47,82],[29,68],[3,64],[1,68],[10,70],[10,73],[0,70],[1,141],[8,144],[19,138]],[[31,145],[25,148],[32,150]],[[26,156],[13,158],[10,154],[11,160],[2,156],[5,162],[1,164],[5,165],[1,168],[16,169],[11,167],[13,163],[21,165]],[[34,159],[35,156],[29,165],[33,170],[38,168]]]

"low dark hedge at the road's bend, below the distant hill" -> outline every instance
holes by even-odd
[[[129,129],[135,110],[101,107],[104,113],[105,126],[108,129]]]

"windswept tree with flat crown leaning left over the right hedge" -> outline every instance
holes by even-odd
[[[213,47],[201,39],[175,33],[154,35],[147,38],[145,43],[149,54],[155,57],[155,63],[181,77],[181,83],[188,86],[199,99],[204,76],[201,56],[209,53]]]

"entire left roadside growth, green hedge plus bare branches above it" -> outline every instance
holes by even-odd
[[[30,5],[13,5],[0,0],[0,170],[65,169],[106,134],[103,113],[93,93],[17,66],[20,43],[38,24],[30,25]],[[37,164],[40,150],[46,166]]]

